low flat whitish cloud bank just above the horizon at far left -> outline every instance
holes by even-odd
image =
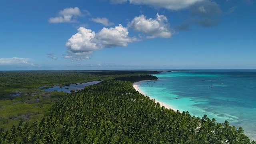
[[[20,64],[28,64],[34,66],[30,61],[30,58],[0,58],[0,65],[20,65]]]

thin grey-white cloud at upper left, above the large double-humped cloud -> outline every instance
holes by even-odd
[[[56,24],[56,23],[71,23],[76,22],[76,18],[78,16],[88,15],[88,11],[84,11],[84,14],[80,11],[78,7],[74,8],[65,8],[58,13],[58,16],[52,17],[48,19],[49,23]]]

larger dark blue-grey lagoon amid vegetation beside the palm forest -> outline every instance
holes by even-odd
[[[86,86],[90,86],[90,85],[93,85],[93,84],[98,84],[100,82],[103,82],[103,81],[92,81],[92,82],[85,82],[85,83],[82,83],[82,84],[70,84],[70,86],[63,86],[62,88],[60,88],[60,86],[53,86],[53,88],[46,88],[44,89],[44,91],[47,91],[47,92],[53,92],[54,90],[57,90],[58,92],[68,92],[68,93],[71,93],[70,91],[71,90],[82,90],[84,89]],[[40,88],[43,88],[44,86],[40,87]],[[68,89],[66,89],[68,88]]]

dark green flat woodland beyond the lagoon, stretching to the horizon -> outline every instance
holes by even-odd
[[[10,94],[40,92],[38,87],[70,86],[95,80],[112,80],[126,74],[157,74],[153,71],[0,71],[0,100],[12,99]]]

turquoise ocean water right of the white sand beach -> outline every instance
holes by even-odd
[[[195,70],[154,76],[158,80],[139,86],[150,98],[191,115],[206,114],[220,123],[228,120],[256,140],[256,70]]]

